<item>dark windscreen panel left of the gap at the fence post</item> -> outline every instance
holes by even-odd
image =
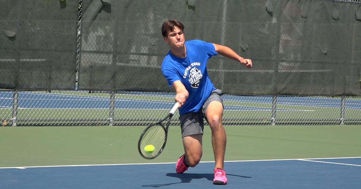
[[[0,2],[0,88],[74,90],[78,3]]]

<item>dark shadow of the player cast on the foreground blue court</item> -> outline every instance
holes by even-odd
[[[210,173],[206,173],[206,174],[199,174],[199,173],[183,173],[183,174],[167,173],[166,176],[179,178],[179,179],[181,179],[181,181],[178,182],[178,183],[165,183],[165,184],[143,185],[143,187],[155,187],[155,188],[159,188],[159,187],[162,187],[162,186],[169,186],[169,185],[172,185],[172,184],[190,183],[191,180],[193,180],[193,179],[203,179],[203,178],[206,178],[207,180],[213,181],[213,178],[214,178],[214,174],[210,174]],[[227,174],[227,176],[238,176],[238,177],[242,177],[242,178],[252,178],[252,177],[250,177],[250,176],[240,176],[240,175],[232,175],[232,174]]]

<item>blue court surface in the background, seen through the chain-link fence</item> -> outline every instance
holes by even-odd
[[[164,97],[173,97],[174,94],[165,94]],[[0,92],[0,108],[12,108],[12,91]],[[223,100],[271,104],[272,96],[235,96],[224,95]],[[96,103],[95,103],[96,102]],[[162,100],[142,100],[131,98],[116,98],[116,109],[170,109],[173,102]],[[339,108],[339,98],[279,96],[278,104],[295,105],[300,107],[327,107]],[[65,95],[47,93],[19,92],[19,108],[57,108],[57,109],[106,109],[109,108],[109,98],[101,96]],[[361,109],[361,100],[347,99],[346,109]],[[225,110],[238,111],[270,111],[270,107],[227,105]],[[277,111],[305,111],[297,108],[278,108]]]

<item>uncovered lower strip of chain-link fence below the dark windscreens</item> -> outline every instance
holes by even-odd
[[[102,91],[0,92],[3,126],[148,125],[171,108],[174,93]],[[223,95],[224,125],[361,123],[361,98]],[[178,114],[173,125],[179,125]]]

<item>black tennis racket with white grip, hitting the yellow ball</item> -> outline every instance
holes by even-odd
[[[168,116],[162,120],[149,125],[144,129],[138,141],[138,150],[140,155],[147,159],[157,157],[164,149],[167,142],[168,127],[175,111],[178,109],[179,103],[175,103]],[[153,145],[153,152],[146,151],[144,148],[147,145]]]

